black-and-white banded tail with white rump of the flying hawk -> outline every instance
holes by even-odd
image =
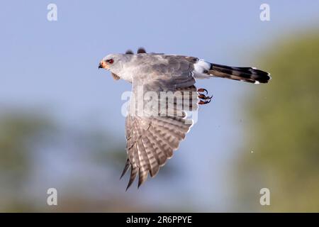
[[[269,82],[269,79],[272,79],[268,72],[257,70],[254,67],[230,67],[198,60],[194,65],[194,68],[196,72],[209,75],[210,77],[235,79],[253,84],[265,84]],[[199,78],[203,77],[199,76]]]

